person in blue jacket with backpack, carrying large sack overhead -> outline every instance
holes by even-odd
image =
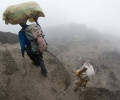
[[[22,57],[26,51],[28,57],[35,65],[40,66],[41,74],[47,76],[47,69],[43,60],[43,51],[47,49],[43,31],[37,20],[38,17],[45,17],[41,8],[36,2],[26,2],[9,6],[3,13],[5,24],[19,24],[22,29],[18,33]],[[27,20],[36,24],[27,25]]]

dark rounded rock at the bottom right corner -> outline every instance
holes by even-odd
[[[104,88],[92,88],[79,95],[80,100],[119,100],[118,95]]]

